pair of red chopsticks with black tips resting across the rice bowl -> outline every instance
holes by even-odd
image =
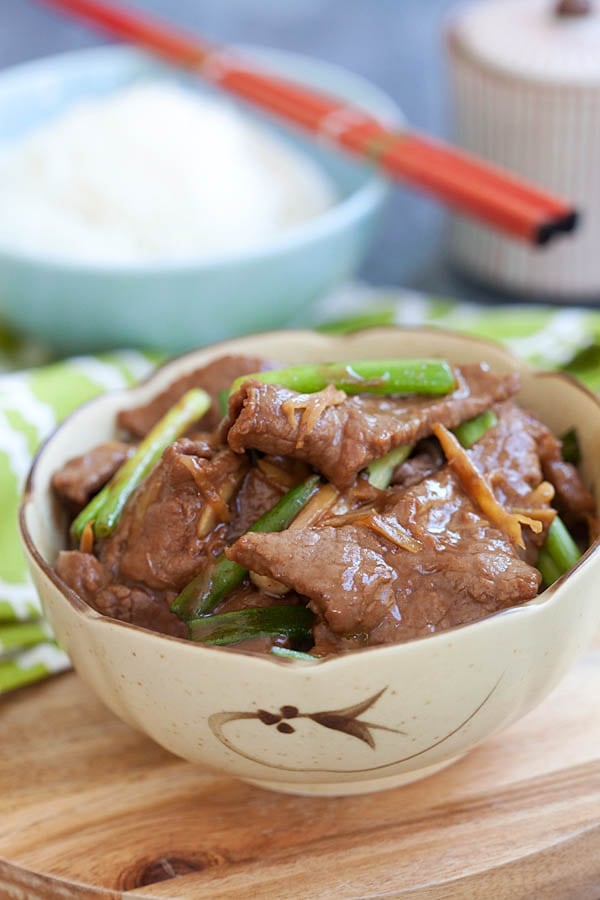
[[[389,129],[357,107],[261,72],[229,51],[145,14],[96,0],[43,2],[219,84],[514,238],[542,245],[577,225],[573,206],[558,197],[416,131]]]

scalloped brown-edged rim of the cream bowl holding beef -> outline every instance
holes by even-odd
[[[418,333],[420,335],[431,335],[435,337],[442,337],[447,339],[459,339],[461,341],[470,341],[474,344],[486,347],[488,346],[490,349],[493,349],[494,354],[503,356],[505,361],[513,366],[517,365],[519,371],[523,373],[529,373],[536,377],[541,378],[554,378],[563,382],[567,382],[570,384],[575,390],[586,395],[589,399],[591,399],[594,404],[598,407],[598,412],[600,416],[600,398],[597,397],[592,391],[582,385],[575,378],[570,376],[568,373],[557,372],[557,371],[548,371],[540,368],[535,368],[524,362],[522,359],[516,357],[513,353],[511,353],[508,349],[498,344],[497,342],[486,339],[479,338],[473,335],[456,332],[456,331],[446,331],[441,328],[436,327],[400,327],[400,326],[385,326],[385,327],[372,327],[372,328],[363,328],[357,331],[352,332],[351,334],[336,336],[336,342],[339,340],[346,341],[347,339],[352,340],[355,337],[359,337],[361,335],[370,334],[377,335],[378,333],[390,334],[390,332],[396,332],[399,334],[407,334],[407,333]],[[431,635],[424,635],[418,638],[413,638],[408,641],[403,641],[398,644],[382,644],[382,645],[374,645],[370,647],[360,648],[348,653],[343,653],[339,655],[331,655],[323,658],[316,658],[314,661],[299,661],[293,659],[281,659],[276,656],[269,656],[267,654],[259,654],[259,653],[251,653],[247,651],[236,650],[235,648],[228,647],[211,647],[211,646],[198,646],[193,641],[189,641],[185,638],[178,638],[172,635],[165,635],[159,632],[151,631],[150,629],[143,628],[138,625],[133,625],[129,622],[123,622],[119,619],[111,618],[110,616],[105,616],[96,610],[94,610],[91,606],[89,606],[82,598],[80,598],[71,588],[67,587],[61,579],[58,577],[53,567],[43,558],[42,554],[38,550],[27,525],[26,517],[27,510],[31,504],[35,501],[35,478],[37,468],[40,463],[40,459],[43,458],[44,454],[47,451],[48,446],[52,443],[53,439],[59,432],[62,432],[66,428],[69,428],[73,425],[73,422],[77,419],[78,415],[83,413],[85,414],[90,409],[93,409],[95,406],[99,404],[107,404],[111,403],[114,407],[115,412],[122,408],[119,401],[122,401],[124,398],[130,398],[137,400],[143,399],[146,400],[148,396],[151,396],[154,392],[155,382],[158,382],[158,390],[164,387],[166,384],[169,384],[171,378],[169,378],[169,374],[173,373],[174,377],[177,377],[177,374],[181,374],[184,371],[187,371],[187,363],[193,361],[198,356],[207,356],[210,359],[214,359],[219,355],[224,355],[224,353],[232,352],[230,348],[232,345],[235,345],[233,348],[236,352],[243,352],[244,345],[253,343],[257,339],[260,338],[268,338],[269,340],[314,340],[324,339],[331,340],[332,336],[324,333],[319,333],[316,331],[309,330],[278,330],[278,331],[269,331],[262,332],[260,334],[252,334],[247,335],[241,338],[233,338],[226,341],[221,341],[216,344],[212,344],[208,347],[198,348],[196,350],[187,351],[179,356],[176,356],[168,361],[164,362],[160,366],[158,366],[153,372],[151,372],[146,378],[141,380],[138,384],[129,387],[123,388],[121,390],[110,391],[108,393],[102,394],[98,397],[95,397],[86,403],[80,405],[76,410],[74,410],[69,416],[67,416],[61,424],[59,424],[52,433],[46,438],[44,443],[39,448],[36,453],[34,460],[32,462],[29,475],[27,478],[23,498],[19,508],[19,529],[21,533],[21,539],[25,544],[30,556],[35,561],[35,564],[39,567],[39,569],[51,580],[54,586],[58,589],[58,591],[62,594],[62,596],[68,601],[71,608],[77,615],[83,615],[85,618],[92,620],[94,625],[98,625],[101,628],[108,629],[108,631],[114,629],[115,627],[118,629],[126,628],[131,630],[132,634],[137,635],[142,640],[149,640],[151,642],[158,642],[158,644],[162,644],[164,641],[169,643],[175,643],[180,645],[182,648],[187,648],[186,651],[189,652],[193,650],[193,652],[203,653],[203,654],[211,654],[214,658],[223,656],[223,651],[226,651],[226,654],[235,654],[238,658],[243,658],[250,665],[278,665],[282,668],[282,671],[293,671],[293,670],[301,670],[306,671],[307,668],[310,671],[319,671],[323,670],[323,667],[327,667],[330,669],[332,666],[347,666],[352,665],[352,660],[356,660],[357,658],[364,658],[365,654],[377,654],[378,656],[389,656],[395,654],[402,654],[406,652],[410,652],[410,649],[415,645],[421,645],[423,642],[427,642],[427,646],[431,646],[432,648],[437,644],[447,642],[449,637],[456,637],[456,635],[465,635],[465,636],[473,636],[478,632],[483,632],[485,629],[494,628],[495,623],[500,619],[505,619],[508,616],[518,616],[518,617],[535,617],[543,615],[544,610],[547,607],[555,605],[560,602],[562,599],[562,595],[567,593],[565,591],[565,584],[569,583],[569,585],[574,585],[577,580],[578,574],[583,570],[589,568],[592,562],[600,562],[600,536],[596,538],[596,540],[590,545],[590,547],[586,550],[586,552],[582,555],[579,562],[571,569],[570,572],[561,576],[551,587],[547,588],[542,593],[538,594],[532,600],[527,601],[519,606],[508,607],[506,609],[499,610],[496,613],[493,613],[489,616],[486,616],[483,619],[477,620],[475,622],[471,622],[466,625],[457,625],[453,628],[446,629],[444,631],[436,632]],[[194,368],[193,365],[189,367]],[[138,400],[139,402],[139,400]],[[216,656],[215,656],[216,655]],[[323,676],[324,677],[324,676]]]

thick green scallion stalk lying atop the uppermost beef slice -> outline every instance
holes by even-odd
[[[333,384],[347,394],[439,395],[449,394],[456,385],[452,367],[440,359],[368,359],[271,369],[236,378],[231,392],[249,380],[278,384],[301,394],[322,391]]]

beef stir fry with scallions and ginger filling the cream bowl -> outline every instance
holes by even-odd
[[[522,604],[596,510],[518,389],[484,363],[213,361],[55,473],[57,572],[102,614],[292,657]]]

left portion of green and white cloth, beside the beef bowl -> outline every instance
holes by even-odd
[[[43,351],[36,348],[35,358]],[[75,407],[147,375],[156,357],[135,351],[82,356],[16,372],[31,362],[30,347],[0,339],[0,694],[69,666],[52,639],[30,582],[17,514],[35,451]]]

